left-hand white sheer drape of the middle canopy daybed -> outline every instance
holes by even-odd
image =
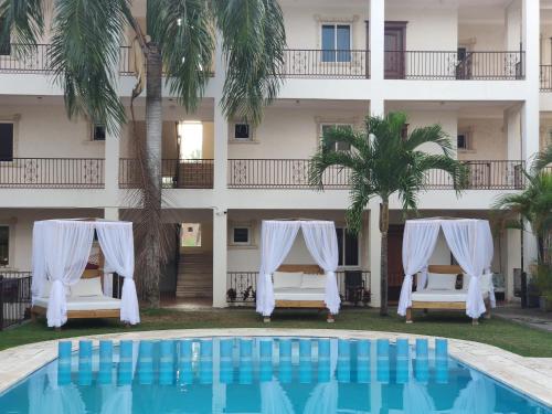
[[[257,312],[270,316],[274,306],[272,274],[282,265],[299,231],[297,221],[263,221],[261,229],[261,270],[257,279]]]

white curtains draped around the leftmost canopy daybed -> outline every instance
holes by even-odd
[[[140,321],[134,283],[132,223],[93,220],[46,220],[35,222],[32,252],[32,297],[44,294],[46,280],[52,282],[47,305],[47,326],[61,327],[67,321],[66,289],[76,284],[91,254],[94,230],[106,257],[106,268],[125,277],[120,318]]]

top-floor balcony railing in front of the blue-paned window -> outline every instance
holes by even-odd
[[[284,52],[286,77],[367,78],[370,52],[362,50],[301,50]]]

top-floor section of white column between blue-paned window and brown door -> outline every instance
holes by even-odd
[[[384,0],[370,0],[370,78],[373,84],[380,84],[384,76]]]

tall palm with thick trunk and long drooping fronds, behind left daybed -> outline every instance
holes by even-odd
[[[46,7],[53,13],[51,28]],[[63,87],[68,116],[84,115],[113,132],[127,121],[117,72],[120,40],[126,29],[134,31],[137,61],[146,62],[132,92],[136,97],[146,87],[146,141],[137,145],[142,181],[137,240],[144,242],[137,246],[137,268],[142,269],[142,296],[157,307],[163,259],[162,72],[168,89],[193,112],[210,77],[219,33],[226,66],[222,109],[227,118],[258,124],[282,83],[286,39],[277,1],[146,0],[147,33],[132,15],[130,0],[55,0],[53,7],[50,0],[0,0],[0,41],[11,35],[22,45],[17,51],[22,55],[33,53],[50,29],[50,68]]]

